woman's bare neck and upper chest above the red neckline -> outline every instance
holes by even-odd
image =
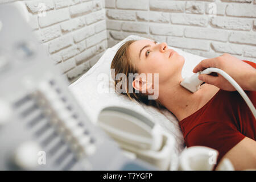
[[[213,85],[204,84],[195,93],[180,86],[183,78],[172,84],[159,87],[159,101],[181,121],[201,109],[218,92]]]

